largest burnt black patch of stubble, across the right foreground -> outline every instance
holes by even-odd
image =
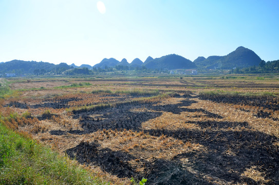
[[[237,122],[195,122],[203,128],[245,127],[248,124]],[[120,178],[133,176],[148,179],[148,184],[215,184],[230,182],[258,184],[258,181],[245,176],[250,167],[265,174],[267,184],[276,183],[279,178],[278,138],[261,132],[247,131],[188,131],[188,130],[145,130],[145,134],[166,136],[183,142],[199,143],[205,151],[191,151],[177,154],[172,159],[152,158],[145,160],[124,151],[102,149],[98,141],[81,142],[66,153],[87,165],[98,165],[106,172]],[[252,142],[251,142],[252,141]],[[100,141],[102,142],[102,141]],[[144,154],[144,149],[141,150]],[[131,163],[137,160],[137,165]],[[138,171],[137,167],[144,170]],[[206,178],[205,178],[206,177]]]

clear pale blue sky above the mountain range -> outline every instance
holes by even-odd
[[[0,0],[0,62],[95,65],[103,58],[226,55],[279,59],[279,1]],[[100,4],[100,3],[99,3]]]

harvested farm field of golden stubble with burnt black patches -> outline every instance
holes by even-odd
[[[276,184],[279,77],[11,78],[29,133],[111,184]]]

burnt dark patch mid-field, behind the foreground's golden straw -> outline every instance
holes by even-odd
[[[196,101],[184,99],[176,104],[168,105],[154,105],[153,103],[144,103],[144,104],[123,104],[117,107],[106,107],[104,106],[101,109],[89,110],[87,112],[74,112],[72,116],[73,119],[79,119],[79,123],[82,125],[84,131],[78,131],[77,133],[92,133],[98,130],[133,130],[141,131],[141,123],[160,117],[162,112],[170,112],[173,114],[180,114],[182,112],[200,112],[204,116],[209,118],[222,118],[219,115],[210,113],[204,109],[191,109],[184,108],[182,106],[189,106]],[[131,109],[135,108],[145,108],[148,111],[143,112],[133,112]],[[73,131],[71,131],[73,132]]]

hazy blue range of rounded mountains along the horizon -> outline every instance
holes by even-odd
[[[160,58],[153,59],[152,57],[147,57],[147,59],[142,62],[140,59],[136,58],[131,63],[128,63],[126,59],[122,59],[121,62],[114,58],[103,59],[100,63],[90,66],[83,64],[81,66],[76,66],[75,64],[67,65],[66,63],[61,63],[58,65],[51,64],[48,62],[35,62],[35,61],[20,61],[13,60],[10,62],[0,63],[0,74],[6,72],[15,73],[34,73],[35,69],[42,69],[42,72],[47,71],[48,73],[61,73],[63,70],[73,69],[73,68],[109,68],[117,67],[119,69],[125,67],[125,69],[133,69],[138,67],[144,67],[147,69],[158,69],[158,70],[172,70],[172,69],[232,69],[234,67],[244,68],[249,66],[258,66],[262,61],[258,55],[243,46],[236,48],[235,51],[229,53],[225,56],[210,56],[207,59],[204,57],[198,57],[194,62],[185,59],[177,54],[169,54]]]

